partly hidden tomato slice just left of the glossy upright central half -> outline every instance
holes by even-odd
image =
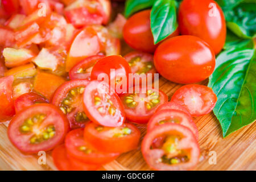
[[[80,61],[69,71],[69,78],[71,78],[71,80],[90,80],[90,73],[92,72],[94,64],[96,64],[96,62],[102,59],[103,57],[103,55],[95,55],[87,57],[84,60]]]

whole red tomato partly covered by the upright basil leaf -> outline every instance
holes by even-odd
[[[179,35],[177,28],[168,38]],[[123,27],[123,39],[132,48],[152,53],[158,44],[154,44],[154,38],[150,28],[150,10],[144,10],[131,16]]]

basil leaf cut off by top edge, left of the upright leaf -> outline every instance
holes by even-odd
[[[153,4],[154,0],[127,0],[125,3],[125,17],[129,17],[137,11],[148,9]]]

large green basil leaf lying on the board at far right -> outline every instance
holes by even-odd
[[[233,48],[220,53],[208,86],[218,101],[213,113],[223,137],[256,119],[256,57],[254,49]]]

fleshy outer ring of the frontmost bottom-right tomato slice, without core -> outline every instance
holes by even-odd
[[[164,155],[164,151],[159,148],[151,149],[150,147],[152,146],[152,143],[154,142],[156,137],[167,134],[183,136],[185,138],[182,139],[184,140],[184,142],[183,144],[181,144],[180,148],[191,148],[191,150],[189,150],[190,159],[188,162],[181,164],[165,164],[162,162],[158,162],[159,158]],[[142,140],[142,155],[148,166],[155,170],[191,170],[196,166],[199,161],[200,148],[192,131],[189,130],[187,127],[176,123],[166,123],[164,125],[156,126],[154,130],[151,130],[144,136]]]

